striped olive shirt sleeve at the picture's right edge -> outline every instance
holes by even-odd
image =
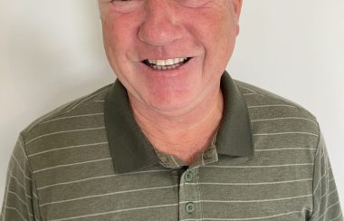
[[[311,221],[343,221],[336,183],[323,137],[314,158]]]

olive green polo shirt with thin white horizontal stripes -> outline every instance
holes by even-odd
[[[221,89],[219,130],[192,165],[152,147],[119,81],[34,121],[0,220],[343,221],[311,113],[226,72]]]

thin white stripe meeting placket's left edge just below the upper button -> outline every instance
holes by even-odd
[[[147,190],[157,190],[157,189],[164,189],[164,188],[173,188],[177,186],[178,185],[167,186],[167,187],[149,187],[149,188],[123,190],[123,191],[117,191],[117,192],[112,192],[112,193],[107,193],[107,194],[91,195],[87,197],[78,197],[78,198],[71,198],[71,199],[65,199],[65,200],[60,200],[60,201],[53,201],[51,203],[42,204],[40,205],[40,207],[45,207],[47,205],[53,205],[53,204],[67,203],[67,202],[72,202],[72,201],[77,201],[77,200],[82,200],[82,199],[88,199],[88,198],[109,197],[109,196],[119,195],[119,194],[134,193],[134,192],[147,191]]]

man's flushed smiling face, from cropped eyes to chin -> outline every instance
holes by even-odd
[[[219,91],[241,0],[99,0],[105,51],[131,102],[197,107]]]

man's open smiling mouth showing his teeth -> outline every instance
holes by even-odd
[[[170,58],[166,60],[154,60],[154,59],[146,59],[142,62],[146,64],[148,67],[158,70],[158,71],[165,71],[165,70],[174,70],[178,67],[184,65],[186,62],[190,61],[191,58]]]

